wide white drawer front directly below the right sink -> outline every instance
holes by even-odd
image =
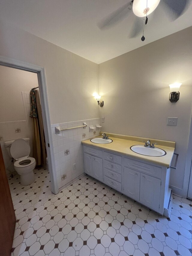
[[[124,158],[124,166],[132,170],[141,171],[157,178],[161,178],[161,167],[145,164],[140,161]]]

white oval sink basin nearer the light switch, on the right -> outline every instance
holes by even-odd
[[[163,149],[159,148],[147,148],[144,147],[143,145],[135,145],[131,146],[130,148],[132,151],[134,151],[137,154],[140,155],[148,155],[148,156],[163,156],[166,155],[167,153]]]

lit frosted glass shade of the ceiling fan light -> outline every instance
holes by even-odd
[[[160,0],[134,0],[133,2],[133,12],[138,17],[146,16],[146,8],[147,14],[152,13],[155,8],[158,6]]]

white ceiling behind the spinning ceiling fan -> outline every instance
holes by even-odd
[[[128,0],[130,1],[130,0]],[[192,3],[174,22],[168,18],[162,2],[149,15],[144,35],[130,39],[135,23],[131,12],[115,26],[100,30],[97,26],[127,0],[0,0],[0,17],[21,29],[101,63],[192,26]],[[143,23],[143,18],[141,23]]]

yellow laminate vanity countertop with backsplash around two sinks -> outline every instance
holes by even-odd
[[[144,145],[142,141],[147,141],[148,139],[141,138],[141,137],[119,135],[119,134],[110,134],[110,133],[107,133],[107,135],[110,135],[110,139],[113,140],[112,143],[96,144],[96,143],[92,143],[91,139],[88,139],[88,140],[83,140],[82,144],[86,146],[95,147],[98,149],[116,152],[128,157],[130,156],[132,158],[149,161],[151,163],[158,164],[161,166],[170,167],[171,160],[173,158],[173,153],[175,150],[175,142],[151,139],[152,143],[158,142],[158,146],[155,145],[155,147],[163,149],[167,154],[163,156],[147,156],[147,155],[140,155],[133,152],[130,149],[130,147],[133,145]],[[98,136],[98,138],[99,137],[102,137],[102,136]]]

